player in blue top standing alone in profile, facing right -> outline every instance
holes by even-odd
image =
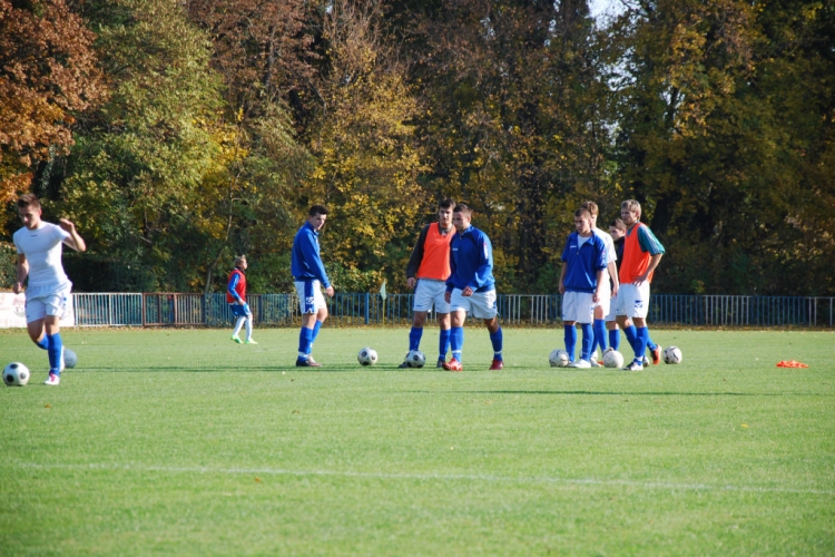
[[[307,213],[307,221],[293,238],[291,273],[296,285],[296,294],[302,311],[302,330],[298,333],[298,368],[321,368],[311,356],[322,323],[327,319],[327,305],[322,289],[328,297],[334,290],[325,273],[320,256],[318,235],[327,219],[327,208],[314,205]]]

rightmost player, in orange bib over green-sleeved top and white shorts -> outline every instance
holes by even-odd
[[[665,252],[649,226],[640,222],[640,203],[627,199],[620,204],[620,218],[627,225],[627,233],[623,241],[623,262],[620,264],[620,294],[617,297],[615,314],[618,325],[623,330],[635,352],[632,363],[623,368],[626,371],[644,370],[644,356],[649,340],[649,284]]]

